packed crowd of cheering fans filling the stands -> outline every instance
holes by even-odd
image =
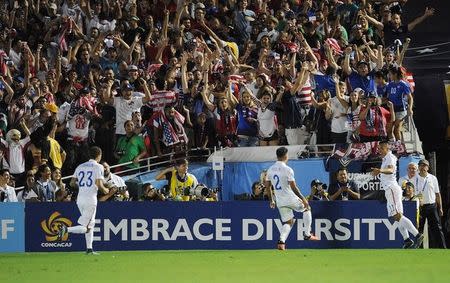
[[[94,144],[133,169],[188,148],[400,140],[408,35],[434,13],[403,23],[406,2],[2,1],[0,181],[69,200],[61,176]]]

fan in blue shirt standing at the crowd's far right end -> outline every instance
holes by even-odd
[[[407,115],[412,116],[413,114],[413,97],[409,84],[403,81],[403,72],[399,66],[391,66],[389,68],[389,79],[390,83],[386,86],[386,93],[389,101],[394,105],[394,137],[396,140],[400,140],[400,129],[403,119]]]

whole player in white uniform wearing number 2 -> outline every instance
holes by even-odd
[[[318,239],[311,234],[311,207],[309,206],[306,198],[300,193],[300,190],[295,183],[294,170],[286,165],[289,159],[288,150],[286,147],[280,147],[277,149],[277,159],[278,161],[267,171],[264,185],[267,191],[270,192],[268,194],[270,207],[275,208],[276,204],[280,212],[283,227],[280,232],[278,249],[285,250],[285,241],[295,223],[293,210],[303,212],[303,223],[306,227],[304,239]],[[270,189],[271,185],[275,189],[275,200],[273,199],[272,190]]]

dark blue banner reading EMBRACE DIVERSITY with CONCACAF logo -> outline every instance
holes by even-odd
[[[400,248],[397,224],[378,201],[312,202],[312,229],[320,241],[303,240],[301,213],[287,241],[295,248]],[[404,203],[415,219],[416,203]],[[85,250],[84,235],[58,239],[58,225],[76,225],[74,203],[26,206],[26,251]],[[267,202],[124,202],[101,203],[94,228],[94,249],[273,249],[282,223]]]

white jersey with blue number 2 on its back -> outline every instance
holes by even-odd
[[[295,182],[294,170],[286,163],[277,161],[267,170],[266,181],[270,181],[274,188],[275,200],[278,207],[290,206],[299,202],[299,198],[292,191],[290,181]]]

